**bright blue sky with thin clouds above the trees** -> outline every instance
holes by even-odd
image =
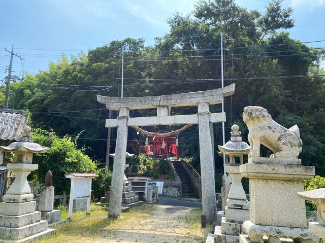
[[[248,9],[264,12],[265,0],[235,0]],[[194,0],[0,0],[0,81],[6,77],[14,43],[13,71],[38,73],[61,53],[78,54],[113,40],[154,37],[169,31],[166,23],[175,11],[190,13]],[[296,27],[290,37],[302,42],[325,40],[325,0],[285,0],[294,9]],[[309,44],[325,47],[325,42]],[[8,55],[9,54],[9,55]],[[324,64],[324,62],[323,62]],[[15,75],[13,74],[13,75]]]

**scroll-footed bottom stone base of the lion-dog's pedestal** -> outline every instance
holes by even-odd
[[[251,221],[245,221],[243,223],[243,230],[251,241],[260,243],[264,243],[263,236],[265,235],[291,237],[299,240],[300,243],[317,243],[319,240],[317,236],[305,228],[255,225]]]

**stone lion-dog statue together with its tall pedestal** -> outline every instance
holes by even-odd
[[[243,223],[240,242],[280,242],[290,237],[295,242],[318,242],[307,227],[305,201],[297,192],[304,190],[304,180],[315,175],[314,166],[302,166],[298,159],[302,141],[298,126],[286,129],[262,107],[246,107],[243,113],[249,134],[248,163],[240,173],[249,178],[250,220]],[[270,158],[259,157],[260,145],[273,151]]]

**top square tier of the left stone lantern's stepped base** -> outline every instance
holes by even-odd
[[[2,202],[0,203],[0,215],[20,216],[35,212],[36,201],[14,203]]]

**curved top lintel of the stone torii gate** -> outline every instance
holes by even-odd
[[[213,90],[169,94],[160,96],[144,97],[108,97],[97,95],[97,100],[106,105],[106,108],[112,111],[119,111],[122,107],[129,110],[152,109],[159,106],[167,107],[187,107],[198,106],[200,102],[206,102],[209,105],[221,103],[222,97],[234,94],[235,84]]]

